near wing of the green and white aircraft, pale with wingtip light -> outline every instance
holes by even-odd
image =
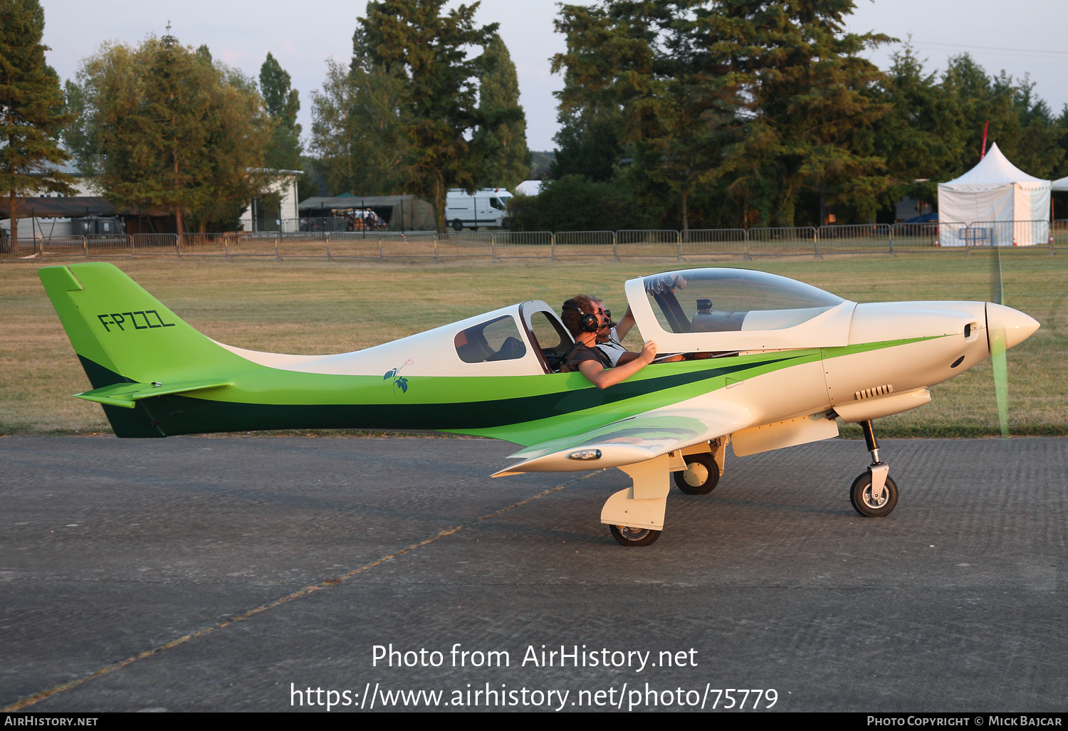
[[[702,403],[701,409],[657,409],[583,434],[533,444],[512,455],[522,458],[522,462],[501,470],[493,477],[524,472],[599,470],[644,462],[744,429],[751,426],[751,419],[750,414],[733,403],[711,409],[707,402]]]

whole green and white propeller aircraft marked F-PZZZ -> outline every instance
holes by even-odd
[[[1038,322],[990,302],[858,304],[783,276],[706,268],[626,283],[655,363],[598,388],[550,364],[574,340],[545,302],[527,301],[336,355],[283,355],[217,343],[110,264],[44,267],[41,281],[92,391],[121,438],[262,429],[436,430],[523,446],[524,472],[619,467],[601,522],[647,545],[676,484],[710,492],[736,456],[864,429],[871,464],[850,499],[890,513],[897,486],[871,419],[930,401],[927,387],[1004,352]],[[556,356],[556,357],[554,357]],[[1001,369],[1004,371],[1004,368]],[[999,369],[995,368],[995,372]]]

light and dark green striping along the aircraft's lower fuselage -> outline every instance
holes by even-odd
[[[202,395],[139,401],[144,425],[112,419],[120,436],[269,429],[433,430],[503,439],[530,445],[580,434],[653,409],[725,387],[727,378],[764,374],[854,352],[929,338],[845,348],[755,353],[664,363],[609,388],[581,374],[408,378],[407,391],[377,376],[307,374],[249,364],[227,375],[234,383]],[[89,370],[89,368],[87,368]],[[109,414],[110,416],[110,414]],[[131,422],[125,415],[125,422]]]

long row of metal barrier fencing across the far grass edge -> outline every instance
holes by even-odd
[[[434,234],[370,232],[237,232],[229,234],[132,234],[56,236],[14,241],[0,238],[0,259],[130,258],[135,256],[271,257],[326,259],[430,259],[637,257],[697,259],[703,256],[826,256],[963,251],[984,247],[1068,249],[1068,220],[975,221],[710,228],[677,232],[465,232]]]

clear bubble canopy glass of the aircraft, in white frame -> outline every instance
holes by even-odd
[[[785,276],[750,269],[685,269],[642,280],[669,333],[794,328],[846,300]]]

